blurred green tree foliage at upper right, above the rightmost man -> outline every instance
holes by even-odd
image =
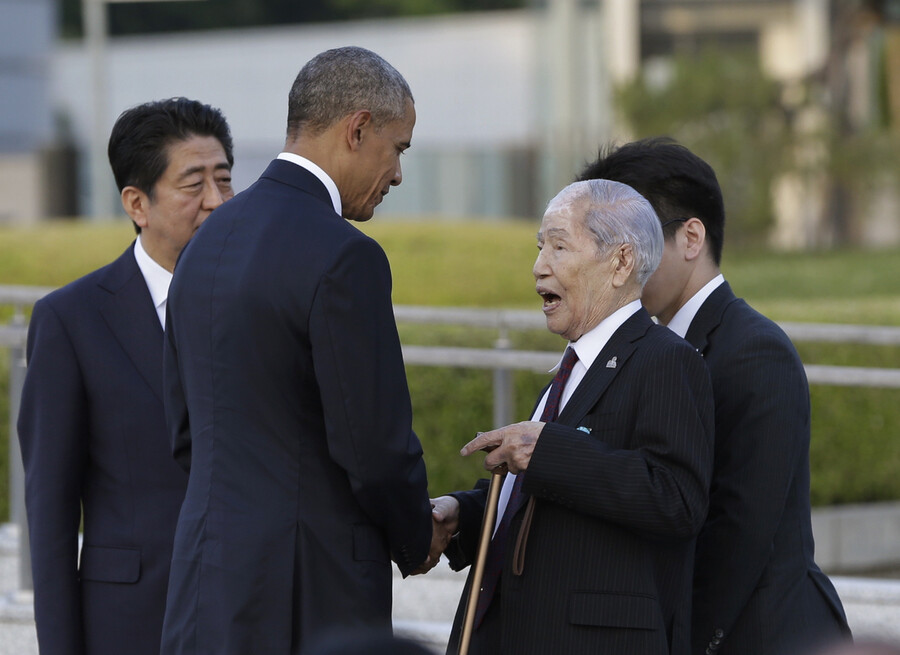
[[[790,175],[822,195],[823,234],[807,244],[822,246],[851,242],[873,197],[900,181],[896,126],[884,111],[851,124],[844,82],[826,70],[782,83],[762,72],[756,52],[708,49],[645,66],[616,103],[635,138],[668,135],[710,163],[725,192],[729,244],[764,243],[775,183]]]

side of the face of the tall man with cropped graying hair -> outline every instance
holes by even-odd
[[[353,179],[341,188],[341,205],[344,218],[367,221],[375,213],[392,186],[403,181],[400,155],[410,146],[416,109],[407,99],[406,114],[393,123],[375,130],[367,126],[360,145],[360,159],[354,168]]]

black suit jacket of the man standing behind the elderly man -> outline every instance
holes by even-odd
[[[709,366],[716,403],[693,652],[797,655],[849,633],[840,599],[813,561],[809,387],[793,344],[728,283],[703,303],[686,336]]]

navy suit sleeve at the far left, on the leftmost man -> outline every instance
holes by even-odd
[[[66,328],[47,301],[35,304],[18,432],[42,655],[84,652],[78,528],[89,440],[88,399]]]

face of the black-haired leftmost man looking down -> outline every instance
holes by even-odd
[[[234,195],[225,149],[212,136],[192,136],[168,146],[169,165],[144,197],[141,243],[172,270],[182,248],[213,209]],[[133,217],[134,218],[134,217]]]

